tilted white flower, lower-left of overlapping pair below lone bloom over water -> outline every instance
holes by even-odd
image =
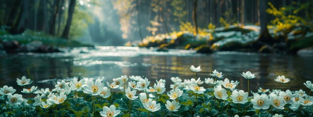
[[[277,109],[285,109],[284,106],[286,105],[286,101],[284,100],[284,97],[277,96],[276,94],[270,94],[269,95],[270,104],[274,106]]]

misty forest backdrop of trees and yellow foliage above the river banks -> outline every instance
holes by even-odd
[[[0,25],[11,34],[30,29],[122,45],[178,31],[199,34],[212,26],[261,24],[264,30],[312,23],[312,6],[311,0],[1,0]]]

